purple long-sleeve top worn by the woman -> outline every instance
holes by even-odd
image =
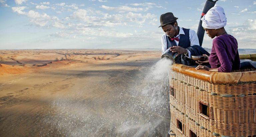
[[[237,40],[231,35],[216,37],[213,40],[209,63],[212,68],[218,68],[218,72],[240,69]]]

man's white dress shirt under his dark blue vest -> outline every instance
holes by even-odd
[[[177,36],[175,36],[174,38],[178,37],[180,39],[180,34],[184,34],[183,29],[180,27],[180,31],[179,34]],[[194,46],[194,45],[199,45],[199,40],[198,37],[196,35],[196,32],[194,30],[189,29],[189,40],[190,40],[190,46]],[[176,44],[179,44],[179,41],[176,41]],[[164,54],[164,52],[167,50],[167,41],[166,41],[166,34],[162,35],[162,54]],[[188,57],[191,58],[191,53],[190,51],[188,51]]]

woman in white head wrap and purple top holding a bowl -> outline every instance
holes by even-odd
[[[214,6],[201,20],[206,34],[211,38],[216,38],[213,40],[210,56],[204,54],[203,56],[207,56],[205,61],[196,61],[197,64],[200,64],[196,70],[231,72],[231,70],[240,69],[237,40],[224,29],[227,24],[224,9]],[[210,63],[211,68],[201,65],[203,63]]]

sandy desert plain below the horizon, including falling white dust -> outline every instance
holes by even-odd
[[[161,51],[0,50],[0,136],[167,136],[160,59]]]

